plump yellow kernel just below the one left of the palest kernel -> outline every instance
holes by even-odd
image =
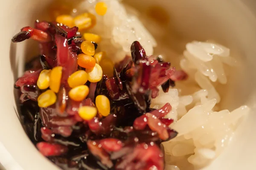
[[[79,85],[75,88],[72,88],[69,93],[68,96],[70,97],[70,99],[74,100],[74,101],[82,101],[83,99],[85,99],[89,94],[89,88],[87,85]]]

